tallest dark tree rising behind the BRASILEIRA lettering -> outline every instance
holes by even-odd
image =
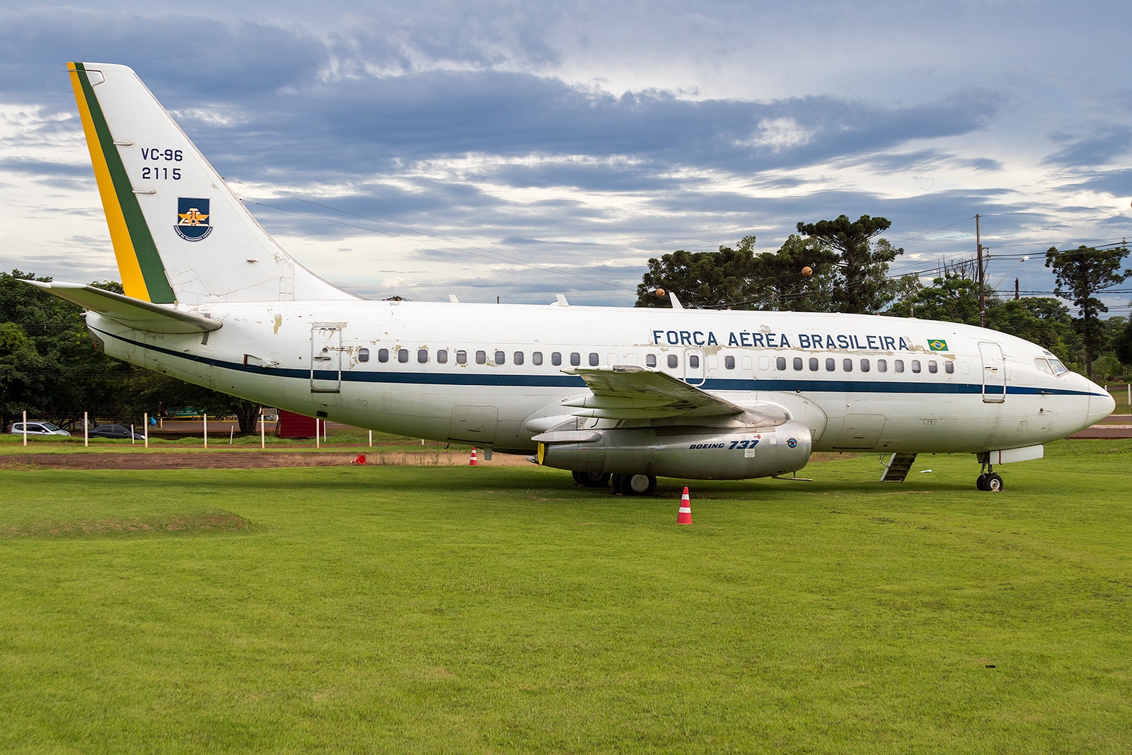
[[[892,300],[889,263],[903,254],[884,239],[872,239],[892,225],[884,217],[861,215],[850,221],[846,215],[833,221],[798,223],[798,233],[835,250],[840,277],[833,289],[833,306],[839,312],[878,312]]]

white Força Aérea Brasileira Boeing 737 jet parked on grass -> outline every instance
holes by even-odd
[[[1040,345],[921,319],[372,301],[260,228],[130,68],[67,66],[125,295],[26,281],[86,311],[106,354],[345,424],[532,454],[625,495],[657,477],[780,479],[813,452],[1000,464],[1107,417]],[[474,323],[475,327],[468,324]]]

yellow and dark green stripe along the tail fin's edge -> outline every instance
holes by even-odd
[[[165,266],[110,135],[110,127],[106,126],[102,106],[91,86],[91,78],[83,63],[67,63],[67,70],[70,71],[78,114],[83,119],[83,131],[91,149],[94,177],[98,182],[98,194],[102,196],[102,207],[106,213],[110,240],[114,244],[114,257],[118,258],[118,272],[121,273],[126,295],[172,303],[175,297],[165,276]]]

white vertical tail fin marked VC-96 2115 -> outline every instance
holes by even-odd
[[[275,243],[132,69],[67,68],[127,295],[157,303],[357,298]]]

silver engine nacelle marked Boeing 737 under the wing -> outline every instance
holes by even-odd
[[[568,430],[535,436],[543,466],[575,472],[745,480],[796,472],[809,461],[809,428],[649,427]]]

